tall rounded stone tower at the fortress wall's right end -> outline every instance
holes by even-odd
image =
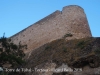
[[[90,37],[88,21],[84,9],[79,6],[66,6],[62,10],[63,24],[68,25],[66,28],[75,38]]]

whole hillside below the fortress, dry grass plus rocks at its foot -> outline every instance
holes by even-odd
[[[81,72],[48,70],[65,64],[72,69],[81,68]],[[97,75],[100,74],[99,66],[100,38],[90,37],[69,41],[58,39],[47,43],[29,53],[24,67],[32,69],[26,75]]]

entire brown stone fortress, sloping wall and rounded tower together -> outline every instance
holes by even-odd
[[[27,44],[25,53],[38,48],[50,41],[62,38],[65,34],[72,34],[69,39],[91,37],[90,28],[84,10],[77,5],[70,5],[62,11],[55,11],[42,20],[27,27],[11,37],[15,44]]]

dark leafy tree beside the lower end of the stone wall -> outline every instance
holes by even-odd
[[[11,39],[5,36],[0,38],[0,65],[11,64],[11,67],[16,67],[24,63],[25,56],[23,49],[27,45],[14,44]]]

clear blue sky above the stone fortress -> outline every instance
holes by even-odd
[[[0,0],[0,37],[10,37],[64,6],[79,5],[93,37],[100,37],[100,0]]]

